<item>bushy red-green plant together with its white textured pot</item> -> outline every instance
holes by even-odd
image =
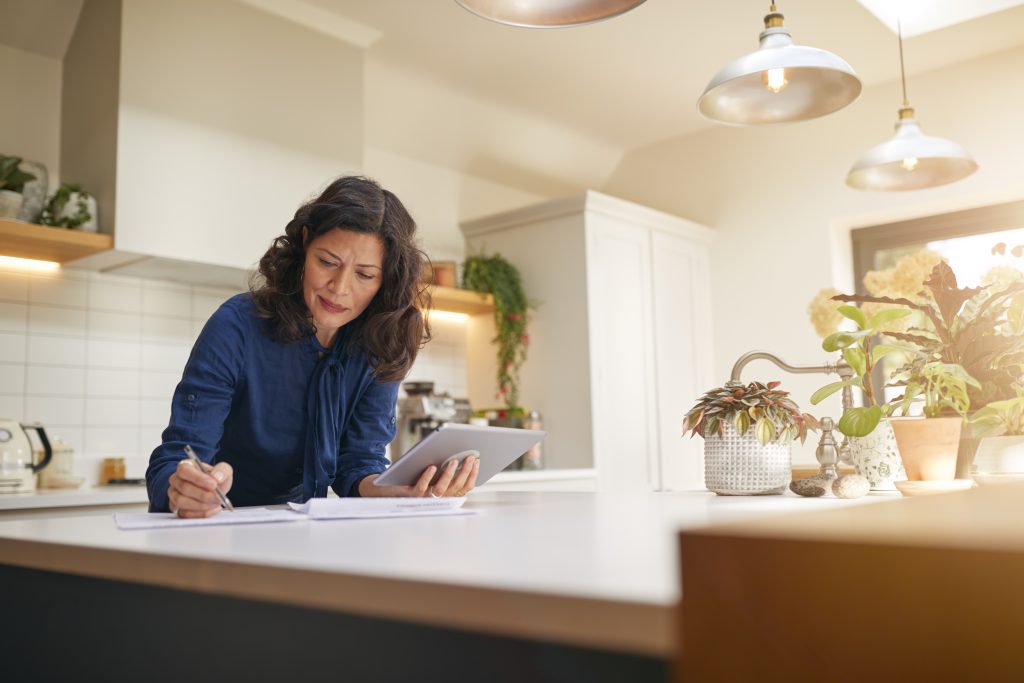
[[[791,444],[818,421],[801,413],[779,382],[726,382],[683,418],[705,439],[705,484],[723,496],[781,494],[793,476]]]

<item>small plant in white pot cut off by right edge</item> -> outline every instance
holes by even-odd
[[[974,414],[971,426],[980,439],[971,468],[975,481],[990,483],[1024,478],[1024,389],[992,401]]]

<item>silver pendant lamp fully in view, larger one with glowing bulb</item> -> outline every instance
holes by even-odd
[[[860,79],[839,56],[795,45],[771,3],[761,47],[729,63],[697,100],[700,114],[722,123],[758,126],[816,119],[860,94]]]

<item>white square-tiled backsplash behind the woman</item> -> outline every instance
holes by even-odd
[[[104,457],[145,473],[206,319],[231,290],[63,269],[0,270],[0,417],[41,422],[91,483]],[[410,380],[466,395],[466,333],[435,321]]]

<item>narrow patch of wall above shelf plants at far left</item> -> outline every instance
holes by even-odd
[[[56,186],[60,172],[59,59],[0,45],[0,154],[41,162]]]

